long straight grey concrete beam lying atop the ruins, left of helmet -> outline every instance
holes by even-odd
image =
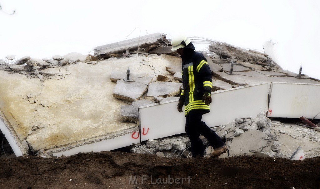
[[[148,47],[162,40],[163,36],[160,33],[144,35],[133,39],[128,39],[121,42],[115,42],[107,45],[102,45],[94,48],[94,55],[110,54],[123,52],[126,50],[136,50],[139,48]]]

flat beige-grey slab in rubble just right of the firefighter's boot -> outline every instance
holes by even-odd
[[[248,130],[232,140],[229,156],[253,155],[266,147],[268,140],[263,140],[267,135],[258,130]]]

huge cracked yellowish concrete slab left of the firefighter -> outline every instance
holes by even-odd
[[[141,61],[142,59],[145,61]],[[145,65],[144,62],[153,66]],[[114,133],[122,133],[123,130],[136,128],[136,132],[138,129],[135,123],[120,119],[121,105],[126,103],[112,96],[116,83],[110,81],[111,72],[130,67],[131,72],[155,76],[165,73],[165,66],[169,63],[180,64],[180,61],[165,56],[109,58],[94,65],[76,63],[63,66],[61,68],[68,70],[69,75],[43,81],[19,73],[0,71],[0,109],[6,119],[4,124],[17,136],[14,138],[17,146],[21,142],[27,148],[29,145],[35,152],[44,149],[53,154],[58,151],[72,153],[72,148],[93,145],[107,139],[110,133],[113,133],[110,137],[116,138],[118,135]],[[133,137],[140,141],[138,133]],[[131,145],[133,131],[131,134],[122,134],[128,135],[128,140],[124,140],[124,137],[121,139],[124,141],[115,143]],[[20,149],[25,153],[26,149]],[[77,152],[80,151],[73,153]]]

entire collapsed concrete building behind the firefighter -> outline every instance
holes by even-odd
[[[261,53],[190,39],[210,43],[203,53],[212,71],[213,101],[204,121],[226,140],[228,152],[220,157],[290,158],[297,147],[306,157],[320,155],[317,127],[274,119],[319,119],[318,79],[284,71],[270,42],[269,53]],[[135,153],[189,156],[184,114],[176,110],[181,59],[163,34],[99,46],[94,56],[7,59],[12,62],[0,65],[0,129],[16,156],[128,146]]]

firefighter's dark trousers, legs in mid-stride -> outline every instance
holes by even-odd
[[[195,157],[196,155],[203,156],[204,145],[200,139],[200,134],[208,139],[213,148],[224,145],[224,142],[217,133],[212,131],[208,125],[201,121],[202,115],[202,110],[193,110],[186,116],[186,133],[190,139],[192,157]]]

